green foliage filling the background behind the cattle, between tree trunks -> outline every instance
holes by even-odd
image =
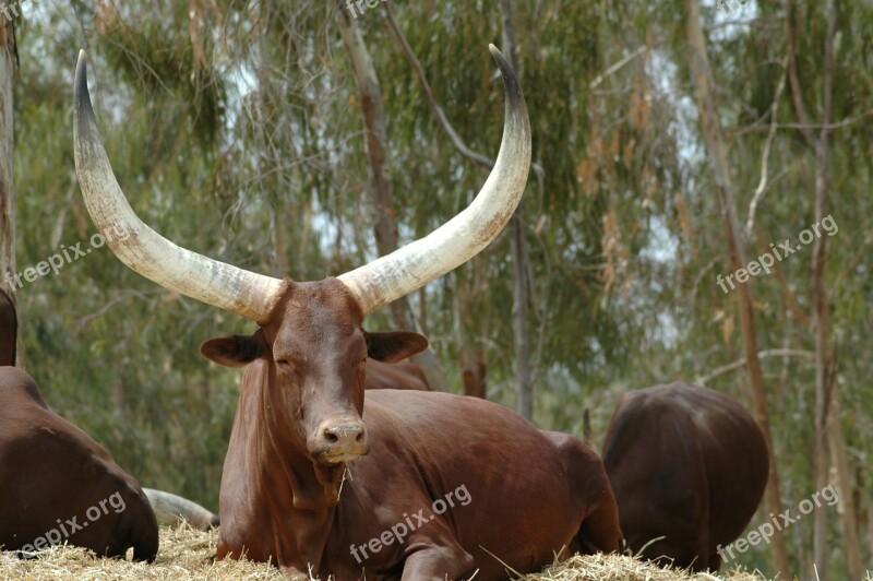
[[[797,4],[802,99],[818,122],[826,7]],[[198,252],[296,280],[373,258],[363,124],[333,2],[74,1],[72,9],[40,3],[19,28],[19,270],[60,245],[87,248],[95,232],[72,159],[79,46],[89,52],[116,174],[144,222]],[[498,3],[426,0],[394,10],[454,129],[495,157],[503,95],[486,47],[501,42]],[[715,5],[703,10],[744,223],[782,74],[782,5],[746,4],[741,24],[725,23]],[[602,441],[622,392],[694,380],[742,355],[736,297],[715,282],[729,261],[693,106],[684,20],[683,2],[514,2],[534,161],[542,168],[531,171],[523,202],[540,427],[582,434],[587,407],[594,439]],[[380,76],[395,218],[407,242],[464,208],[487,171],[462,157],[435,122],[383,9],[358,23]],[[851,122],[830,138],[830,203],[840,230],[828,238],[826,285],[859,499],[873,497],[864,471],[873,453],[865,388],[873,360],[871,29],[869,4],[840,3],[833,122]],[[788,87],[778,117],[800,122]],[[797,129],[780,128],[750,259],[813,222],[814,177],[814,152]],[[811,260],[810,246],[750,283],[762,349],[814,348]],[[414,297],[454,388],[465,336],[488,364],[489,395],[511,406],[512,270],[504,236]],[[108,248],[26,283],[19,297],[25,364],[49,404],[144,485],[215,509],[238,375],[207,364],[196,346],[253,324],[156,287]],[[463,301],[469,312],[459,310]],[[387,318],[376,315],[368,327],[386,328]],[[813,446],[814,366],[802,357],[763,365],[786,506],[796,507],[814,491],[805,453]],[[742,368],[709,386],[749,405]],[[794,555],[809,553],[811,532],[792,531]],[[742,562],[768,568],[764,550]]]

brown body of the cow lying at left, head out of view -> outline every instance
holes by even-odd
[[[0,401],[3,550],[29,553],[57,540],[110,557],[133,547],[134,559],[154,560],[157,522],[136,481],[50,411],[27,374],[0,368]],[[45,543],[34,546],[37,538]]]

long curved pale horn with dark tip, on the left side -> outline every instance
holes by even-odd
[[[146,226],[116,180],[91,105],[85,51],[75,68],[75,168],[91,218],[112,252],[160,286],[208,305],[265,322],[282,281],[192,252]],[[109,229],[123,228],[121,240]]]

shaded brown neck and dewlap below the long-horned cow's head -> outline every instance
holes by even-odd
[[[264,365],[263,367],[267,367]],[[249,402],[256,415],[256,431],[252,435],[254,453],[248,459],[250,478],[258,491],[261,513],[270,519],[276,535],[278,560],[297,556],[302,562],[318,566],[334,513],[339,502],[344,466],[327,467],[313,462],[291,437],[287,413],[280,394],[268,389],[275,378],[261,370],[256,393]],[[290,553],[290,555],[289,555]],[[292,559],[296,560],[296,559]]]

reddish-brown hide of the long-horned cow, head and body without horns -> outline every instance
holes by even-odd
[[[219,558],[246,552],[292,574],[311,570],[340,581],[364,571],[368,579],[457,579],[477,568],[477,579],[491,580],[506,573],[488,552],[530,572],[564,547],[619,548],[606,472],[582,441],[540,432],[474,398],[375,390],[364,404],[368,352],[391,360],[427,343],[412,334],[366,333],[360,322],[338,281],[288,281],[271,321],[253,337],[201,348],[228,365],[234,349],[237,363],[252,361],[225,459]],[[396,353],[404,343],[411,346]],[[308,353],[322,355],[304,358]],[[354,453],[313,444],[312,429],[325,418],[361,416],[366,434],[357,435]],[[468,506],[431,520],[432,503],[462,486]],[[414,517],[421,510],[424,523]],[[352,545],[381,538],[407,518],[420,525],[403,544],[368,549],[368,558],[359,552],[358,562]]]

